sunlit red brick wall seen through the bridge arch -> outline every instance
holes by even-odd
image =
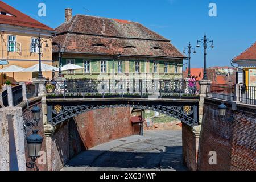
[[[98,109],[75,117],[84,146],[92,148],[133,135],[130,108]]]

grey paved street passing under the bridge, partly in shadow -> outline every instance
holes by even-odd
[[[187,170],[181,131],[144,131],[82,152],[63,171]]]

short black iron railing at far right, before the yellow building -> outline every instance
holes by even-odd
[[[239,93],[241,103],[256,105],[256,86],[239,86]]]

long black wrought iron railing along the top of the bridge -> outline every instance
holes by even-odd
[[[67,80],[46,86],[48,97],[157,97],[199,95],[199,84],[185,80]]]

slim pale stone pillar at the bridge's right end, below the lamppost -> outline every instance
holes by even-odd
[[[199,100],[199,124],[201,125],[204,114],[204,98],[207,96],[207,85],[212,84],[210,80],[201,80],[200,84],[200,100]]]

